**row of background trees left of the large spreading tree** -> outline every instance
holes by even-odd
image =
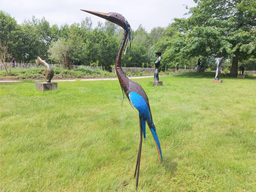
[[[32,17],[17,24],[8,13],[0,11],[1,53],[15,56],[17,62],[35,62],[37,56],[49,63],[60,63],[65,68],[76,65],[95,65],[110,69],[115,63],[116,52],[122,41],[123,29],[106,21],[92,28],[90,17],[72,25],[49,25],[43,17]],[[149,55],[156,39],[160,39],[164,28],[157,27],[150,33],[139,26],[133,32],[132,49],[122,59],[126,67],[148,67],[154,64],[154,54]],[[2,54],[3,55],[3,54]],[[9,57],[5,61],[10,61]],[[153,62],[153,63],[152,63]],[[152,63],[152,64],[151,64]]]

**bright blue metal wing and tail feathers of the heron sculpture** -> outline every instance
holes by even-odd
[[[146,126],[146,122],[147,122],[148,127],[150,128],[150,131],[153,134],[154,140],[157,144],[157,151],[160,153],[161,159],[163,160],[162,151],[161,151],[159,139],[157,137],[156,128],[151,119],[151,114],[150,114],[150,111],[148,109],[148,105],[147,105],[145,99],[135,92],[129,93],[129,99],[130,99],[132,105],[139,111],[144,139],[146,139],[145,126]]]

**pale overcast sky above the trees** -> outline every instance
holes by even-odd
[[[105,20],[95,15],[82,12],[87,9],[98,12],[118,12],[136,30],[140,24],[150,32],[154,27],[166,27],[175,17],[182,18],[188,9],[193,7],[193,0],[0,0],[0,10],[15,17],[18,24],[24,20],[45,19],[50,26],[57,24],[80,23],[85,17],[93,21],[93,28],[98,21]]]

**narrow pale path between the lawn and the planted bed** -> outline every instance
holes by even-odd
[[[129,77],[129,79],[140,79],[140,78],[147,78],[147,77],[154,77],[154,76],[134,76],[134,77]],[[52,82],[58,82],[58,81],[76,81],[76,80],[80,80],[80,81],[99,81],[99,80],[116,80],[117,77],[113,77],[113,78],[87,78],[87,79],[52,79]],[[14,82],[20,82],[20,81],[24,81],[24,80],[30,80],[30,81],[44,81],[44,79],[6,79],[6,80],[2,80],[0,79],[0,84],[3,83],[14,83]]]

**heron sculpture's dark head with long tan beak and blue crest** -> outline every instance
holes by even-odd
[[[128,23],[128,21],[125,19],[124,16],[122,16],[119,13],[115,13],[115,12],[102,13],[102,12],[95,12],[95,11],[89,11],[89,10],[84,10],[84,9],[81,9],[81,11],[96,15],[98,17],[102,17],[105,20],[108,20],[112,23],[116,23],[117,25],[122,27],[124,30],[126,30],[128,32],[129,41],[130,41],[130,48],[131,48],[131,26]]]

